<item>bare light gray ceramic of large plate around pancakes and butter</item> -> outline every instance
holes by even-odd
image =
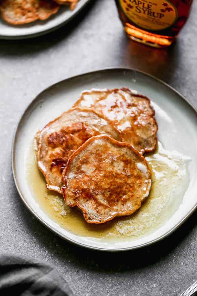
[[[127,86],[151,98],[159,125],[158,139],[167,150],[177,150],[191,158],[190,183],[178,210],[159,229],[130,241],[103,242],[80,237],[52,221],[36,203],[26,181],[25,160],[33,135],[48,121],[59,116],[78,99],[84,89]],[[195,210],[197,205],[197,116],[194,108],[167,84],[145,73],[126,68],[99,70],[71,77],[40,93],[27,107],[16,128],[12,147],[12,170],[20,197],[27,208],[48,229],[63,239],[97,250],[131,250],[152,244],[171,234]],[[172,196],[173,198],[173,196]]]

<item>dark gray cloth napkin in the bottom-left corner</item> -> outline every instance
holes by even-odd
[[[27,256],[0,255],[0,295],[73,296],[51,264]]]

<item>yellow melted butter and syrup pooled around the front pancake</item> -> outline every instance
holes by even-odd
[[[167,151],[158,143],[154,153],[146,154],[152,170],[149,196],[140,209],[130,216],[103,224],[89,224],[77,209],[65,205],[63,197],[46,189],[45,178],[37,166],[33,145],[27,159],[27,183],[40,208],[56,223],[73,234],[110,239],[136,239],[161,227],[176,212],[189,185],[189,158]]]

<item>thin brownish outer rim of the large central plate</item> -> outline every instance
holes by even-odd
[[[88,0],[89,1],[89,0]],[[14,161],[14,156],[15,156],[15,146],[16,146],[16,142],[17,142],[17,132],[19,131],[19,126],[20,126],[20,123],[22,122],[23,120],[23,117],[24,115],[26,114],[27,110],[30,108],[30,106],[32,104],[34,104],[34,102],[37,100],[38,96],[40,96],[40,94],[42,94],[44,91],[50,89],[51,87],[54,87],[56,86],[56,84],[58,83],[61,83],[63,81],[66,81],[66,80],[69,80],[69,79],[73,79],[73,78],[78,78],[78,77],[82,77],[84,75],[88,75],[88,74],[96,74],[96,73],[99,73],[99,72],[102,72],[102,71],[110,71],[110,70],[122,70],[122,71],[136,71],[136,72],[139,72],[143,75],[146,75],[148,77],[151,77],[153,78],[154,80],[162,83],[163,85],[167,86],[168,88],[170,88],[172,91],[174,91],[176,94],[178,94],[178,96],[180,96],[181,99],[183,99],[183,101],[185,101],[189,107],[191,107],[191,109],[194,111],[194,113],[196,114],[197,116],[197,109],[182,95],[180,94],[178,91],[176,91],[172,86],[170,86],[169,84],[167,84],[166,82],[162,81],[161,79],[149,74],[149,73],[146,73],[144,71],[141,71],[141,70],[138,70],[138,69],[135,69],[135,68],[131,68],[131,67],[105,67],[105,68],[101,68],[99,70],[94,70],[94,71],[89,71],[89,72],[83,72],[81,74],[77,74],[77,75],[73,75],[73,76],[70,76],[68,78],[65,78],[65,79],[62,79],[61,81],[58,81],[54,84],[52,84],[51,86],[48,86],[47,88],[45,88],[43,91],[41,91],[37,96],[35,96],[35,98],[27,105],[27,107],[25,107],[24,111],[22,112],[22,115],[19,117],[19,120],[17,122],[17,125],[14,129],[14,134],[13,134],[13,138],[12,138],[12,150],[11,150],[11,166],[12,166],[12,176],[13,176],[13,179],[14,179],[14,184],[15,184],[15,187],[17,189],[17,192],[22,200],[22,202],[25,204],[25,206],[27,207],[27,209],[30,211],[30,213],[32,213],[35,218],[41,222],[47,229],[49,229],[50,231],[52,231],[54,234],[58,235],[59,237],[61,237],[62,239],[74,244],[74,245],[78,245],[80,247],[84,247],[84,248],[87,248],[87,249],[91,249],[91,250],[98,250],[98,251],[105,251],[105,252],[120,252],[120,251],[129,251],[129,250],[135,250],[135,249],[140,249],[142,247],[146,247],[146,246],[149,246],[151,244],[154,244],[156,242],[159,242],[161,241],[162,239],[170,236],[170,234],[172,234],[175,230],[177,230],[191,215],[192,213],[194,213],[194,211],[196,210],[197,208],[197,201],[196,201],[196,205],[189,211],[189,213],[187,215],[185,215],[185,217],[183,217],[174,227],[172,227],[172,229],[170,229],[169,231],[167,231],[165,234],[155,238],[155,239],[152,239],[151,241],[149,242],[146,242],[144,244],[141,244],[141,245],[136,245],[136,246],[132,246],[132,247],[123,247],[123,248],[114,248],[114,249],[108,249],[108,248],[101,248],[101,247],[94,247],[94,246],[90,246],[88,244],[84,244],[84,243],[81,243],[81,242],[77,242],[75,241],[74,239],[71,239],[71,238],[68,238],[68,237],[65,237],[64,235],[62,235],[61,233],[59,233],[59,231],[57,229],[53,229],[52,226],[49,226],[44,220],[43,218],[39,217],[34,211],[33,209],[31,209],[31,207],[29,206],[29,204],[27,203],[27,201],[25,200],[22,192],[20,191],[20,187],[18,185],[18,182],[17,182],[17,174],[15,173],[15,161]]]

